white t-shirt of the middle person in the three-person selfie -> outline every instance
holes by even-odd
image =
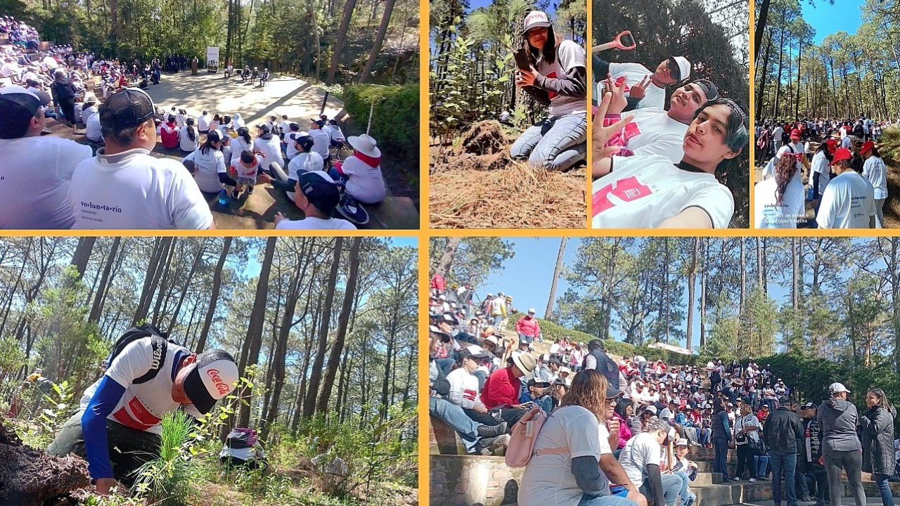
[[[684,158],[684,134],[688,125],[671,119],[662,109],[644,108],[634,114],[635,119],[620,133],[627,141],[618,156],[662,155],[672,163]]]

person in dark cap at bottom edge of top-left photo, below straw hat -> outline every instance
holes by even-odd
[[[293,203],[306,215],[302,220],[288,220],[275,214],[275,230],[355,230],[347,220],[332,218],[340,200],[338,185],[327,172],[304,172],[294,185]]]

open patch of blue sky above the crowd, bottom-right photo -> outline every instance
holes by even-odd
[[[553,282],[556,254],[559,252],[561,238],[513,238],[513,250],[516,256],[509,258],[500,273],[489,276],[475,293],[479,300],[491,292],[503,292],[512,295],[513,305],[519,311],[526,312],[535,308],[538,318],[544,318],[547,309],[547,295]],[[566,243],[563,263],[575,261],[579,238],[570,238]],[[556,285],[556,296],[565,292],[568,283],[560,277]]]

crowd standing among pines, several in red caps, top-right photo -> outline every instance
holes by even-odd
[[[877,143],[893,125],[864,116],[758,122],[756,158],[764,167],[754,192],[755,226],[884,228],[887,168]]]

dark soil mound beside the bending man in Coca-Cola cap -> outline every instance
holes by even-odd
[[[85,500],[90,484],[83,458],[25,446],[0,420],[0,504],[73,506]]]

